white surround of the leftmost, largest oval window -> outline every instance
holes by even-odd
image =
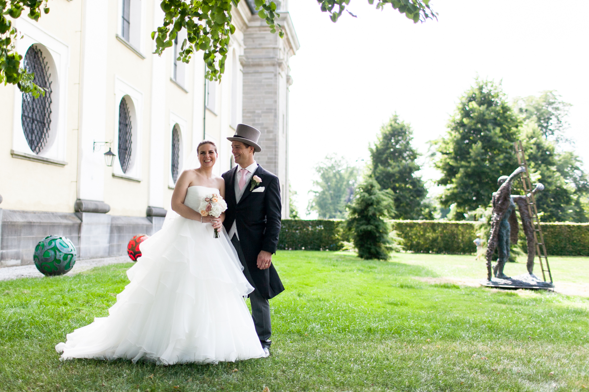
[[[22,157],[27,154],[31,157],[41,157],[45,160],[57,161],[58,165],[66,165],[67,147],[67,91],[68,68],[70,65],[70,48],[67,44],[49,34],[36,24],[29,22],[27,18],[19,18],[13,21],[18,29],[21,39],[16,41],[16,51],[24,56],[31,45],[38,44],[49,64],[51,74],[51,126],[49,144],[39,154],[35,154],[29,147],[22,129],[22,92],[14,89],[14,121],[12,122],[12,151],[13,156]],[[42,161],[42,160],[39,160]]]

